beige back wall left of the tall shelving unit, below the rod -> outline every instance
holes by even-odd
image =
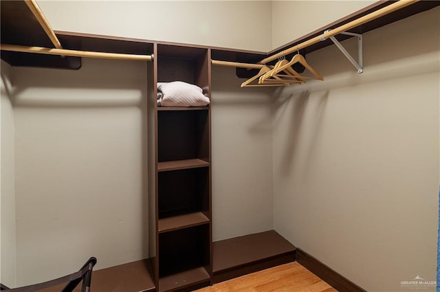
[[[17,285],[147,258],[146,64],[14,77]]]

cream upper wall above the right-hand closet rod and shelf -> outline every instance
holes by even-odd
[[[376,1],[272,1],[272,49],[314,32]]]

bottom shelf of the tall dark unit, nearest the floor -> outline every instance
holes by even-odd
[[[202,282],[209,282],[210,276],[204,267],[197,267],[170,276],[159,278],[159,291],[184,289]]]

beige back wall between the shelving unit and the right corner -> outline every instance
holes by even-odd
[[[272,89],[212,69],[213,240],[273,229]]]

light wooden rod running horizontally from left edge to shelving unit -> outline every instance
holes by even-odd
[[[47,49],[43,47],[25,47],[16,45],[0,45],[3,51],[21,51],[23,53],[44,53],[71,57],[100,58],[112,60],[151,61],[153,55],[132,55],[128,53],[104,53],[100,51],[76,51],[72,49]]]

